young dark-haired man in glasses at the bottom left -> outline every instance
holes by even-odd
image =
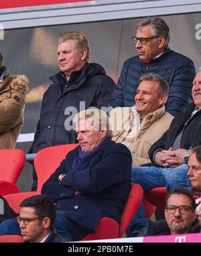
[[[0,228],[3,228],[4,234],[10,234],[13,227],[15,234],[21,235],[23,240],[29,243],[60,243],[72,240],[70,234],[67,239],[54,230],[56,208],[48,196],[31,196],[23,200],[20,207],[17,219],[13,218],[1,223]]]

